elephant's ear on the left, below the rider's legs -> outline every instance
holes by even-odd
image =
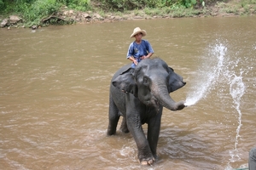
[[[112,84],[115,88],[119,88],[125,93],[131,93],[137,97],[137,83],[134,80],[134,69],[128,69],[122,72],[118,77],[116,77]]]

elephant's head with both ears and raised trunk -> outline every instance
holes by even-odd
[[[128,69],[113,80],[113,86],[131,93],[145,105],[162,105],[169,110],[182,110],[183,101],[175,102],[170,93],[186,82],[165,61],[159,58],[143,59],[136,69]]]

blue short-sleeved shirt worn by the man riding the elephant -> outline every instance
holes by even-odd
[[[134,59],[136,59],[139,63],[142,60],[140,58],[143,55],[148,55],[148,53],[154,53],[154,50],[147,40],[142,40],[140,44],[137,44],[137,42],[131,42],[128,48],[126,59],[133,56]],[[135,68],[135,64],[133,62],[131,64],[131,68]]]

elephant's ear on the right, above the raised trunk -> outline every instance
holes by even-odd
[[[174,70],[169,67],[169,82],[168,82],[168,92],[174,92],[178,88],[182,88],[186,82],[183,82],[183,77],[177,75]]]

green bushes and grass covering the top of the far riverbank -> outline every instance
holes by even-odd
[[[198,14],[211,15],[211,8],[219,8],[228,14],[256,14],[256,0],[0,0],[0,21],[2,16],[16,14],[22,18],[22,25],[63,25],[73,20],[42,20],[65,9],[92,11],[104,18],[108,13],[121,16],[131,14],[158,17],[192,17]]]

